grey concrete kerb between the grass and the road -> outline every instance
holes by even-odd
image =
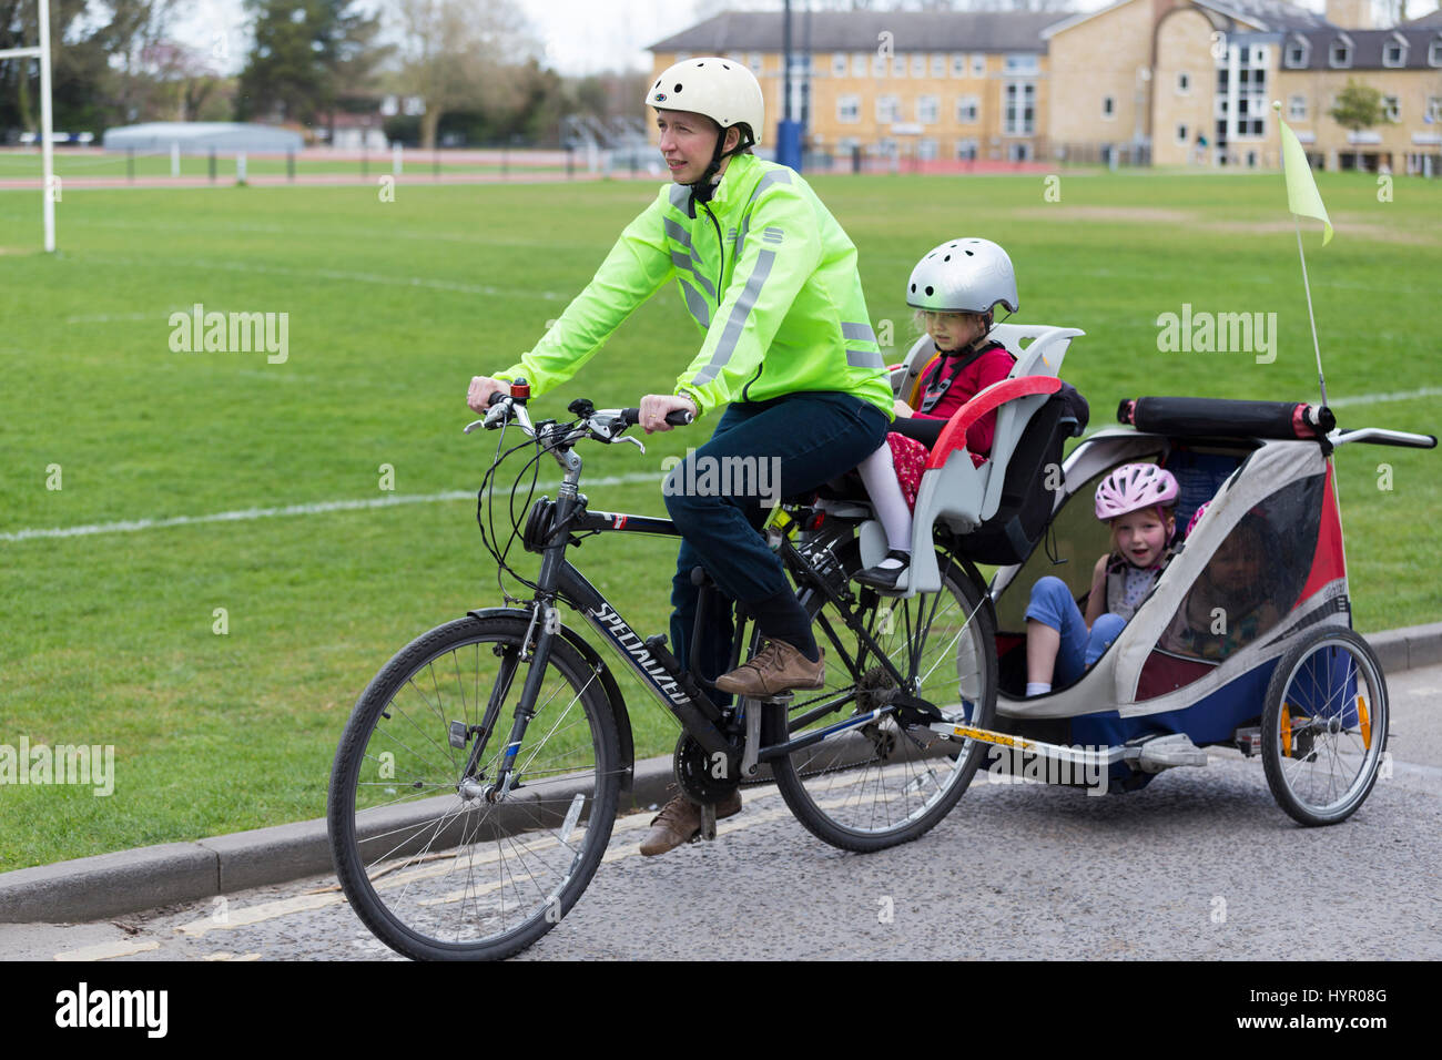
[[[1442,622],[1367,635],[1386,672],[1442,662]],[[671,756],[636,763],[620,812],[675,795]],[[0,923],[76,923],[283,884],[332,870],[326,822],[258,828],[0,873]]]

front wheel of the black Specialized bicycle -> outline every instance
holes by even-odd
[[[327,813],[336,875],[366,927],[410,958],[529,946],[575,904],[610,839],[616,723],[597,673],[559,637],[510,789],[493,787],[531,673],[526,627],[467,616],[417,637],[340,737]]]

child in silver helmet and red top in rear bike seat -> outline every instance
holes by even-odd
[[[930,251],[911,270],[907,304],[916,323],[936,346],[923,369],[920,405],[897,398],[895,423],[875,453],[861,463],[877,519],[887,534],[885,558],[855,575],[875,588],[894,588],[911,562],[911,509],[932,446],[946,421],[976,394],[1005,379],[1015,359],[999,342],[988,340],[998,304],[1017,312],[1017,277],[1007,251],[988,239],[952,239]],[[996,412],[966,431],[972,463],[991,454]]]

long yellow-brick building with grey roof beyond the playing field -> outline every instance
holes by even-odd
[[[1278,167],[1279,100],[1314,166],[1442,175],[1442,13],[1371,25],[1370,0],[1325,16],[1282,0],[1118,0],[1035,12],[815,12],[792,17],[792,114],[812,159],[1141,162]],[[650,46],[653,74],[725,55],[782,117],[780,13],[728,12]],[[809,68],[808,68],[809,56]],[[809,74],[809,76],[808,76]],[[1348,78],[1390,123],[1328,111]]]

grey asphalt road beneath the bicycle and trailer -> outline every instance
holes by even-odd
[[[1442,666],[1389,678],[1390,776],[1344,825],[1299,828],[1260,759],[1211,751],[1092,798],[989,783],[871,855],[810,836],[774,789],[718,841],[642,858],[623,818],[567,919],[521,959],[1439,959]],[[0,955],[76,960],[394,958],[333,877],[89,924],[0,924]]]

